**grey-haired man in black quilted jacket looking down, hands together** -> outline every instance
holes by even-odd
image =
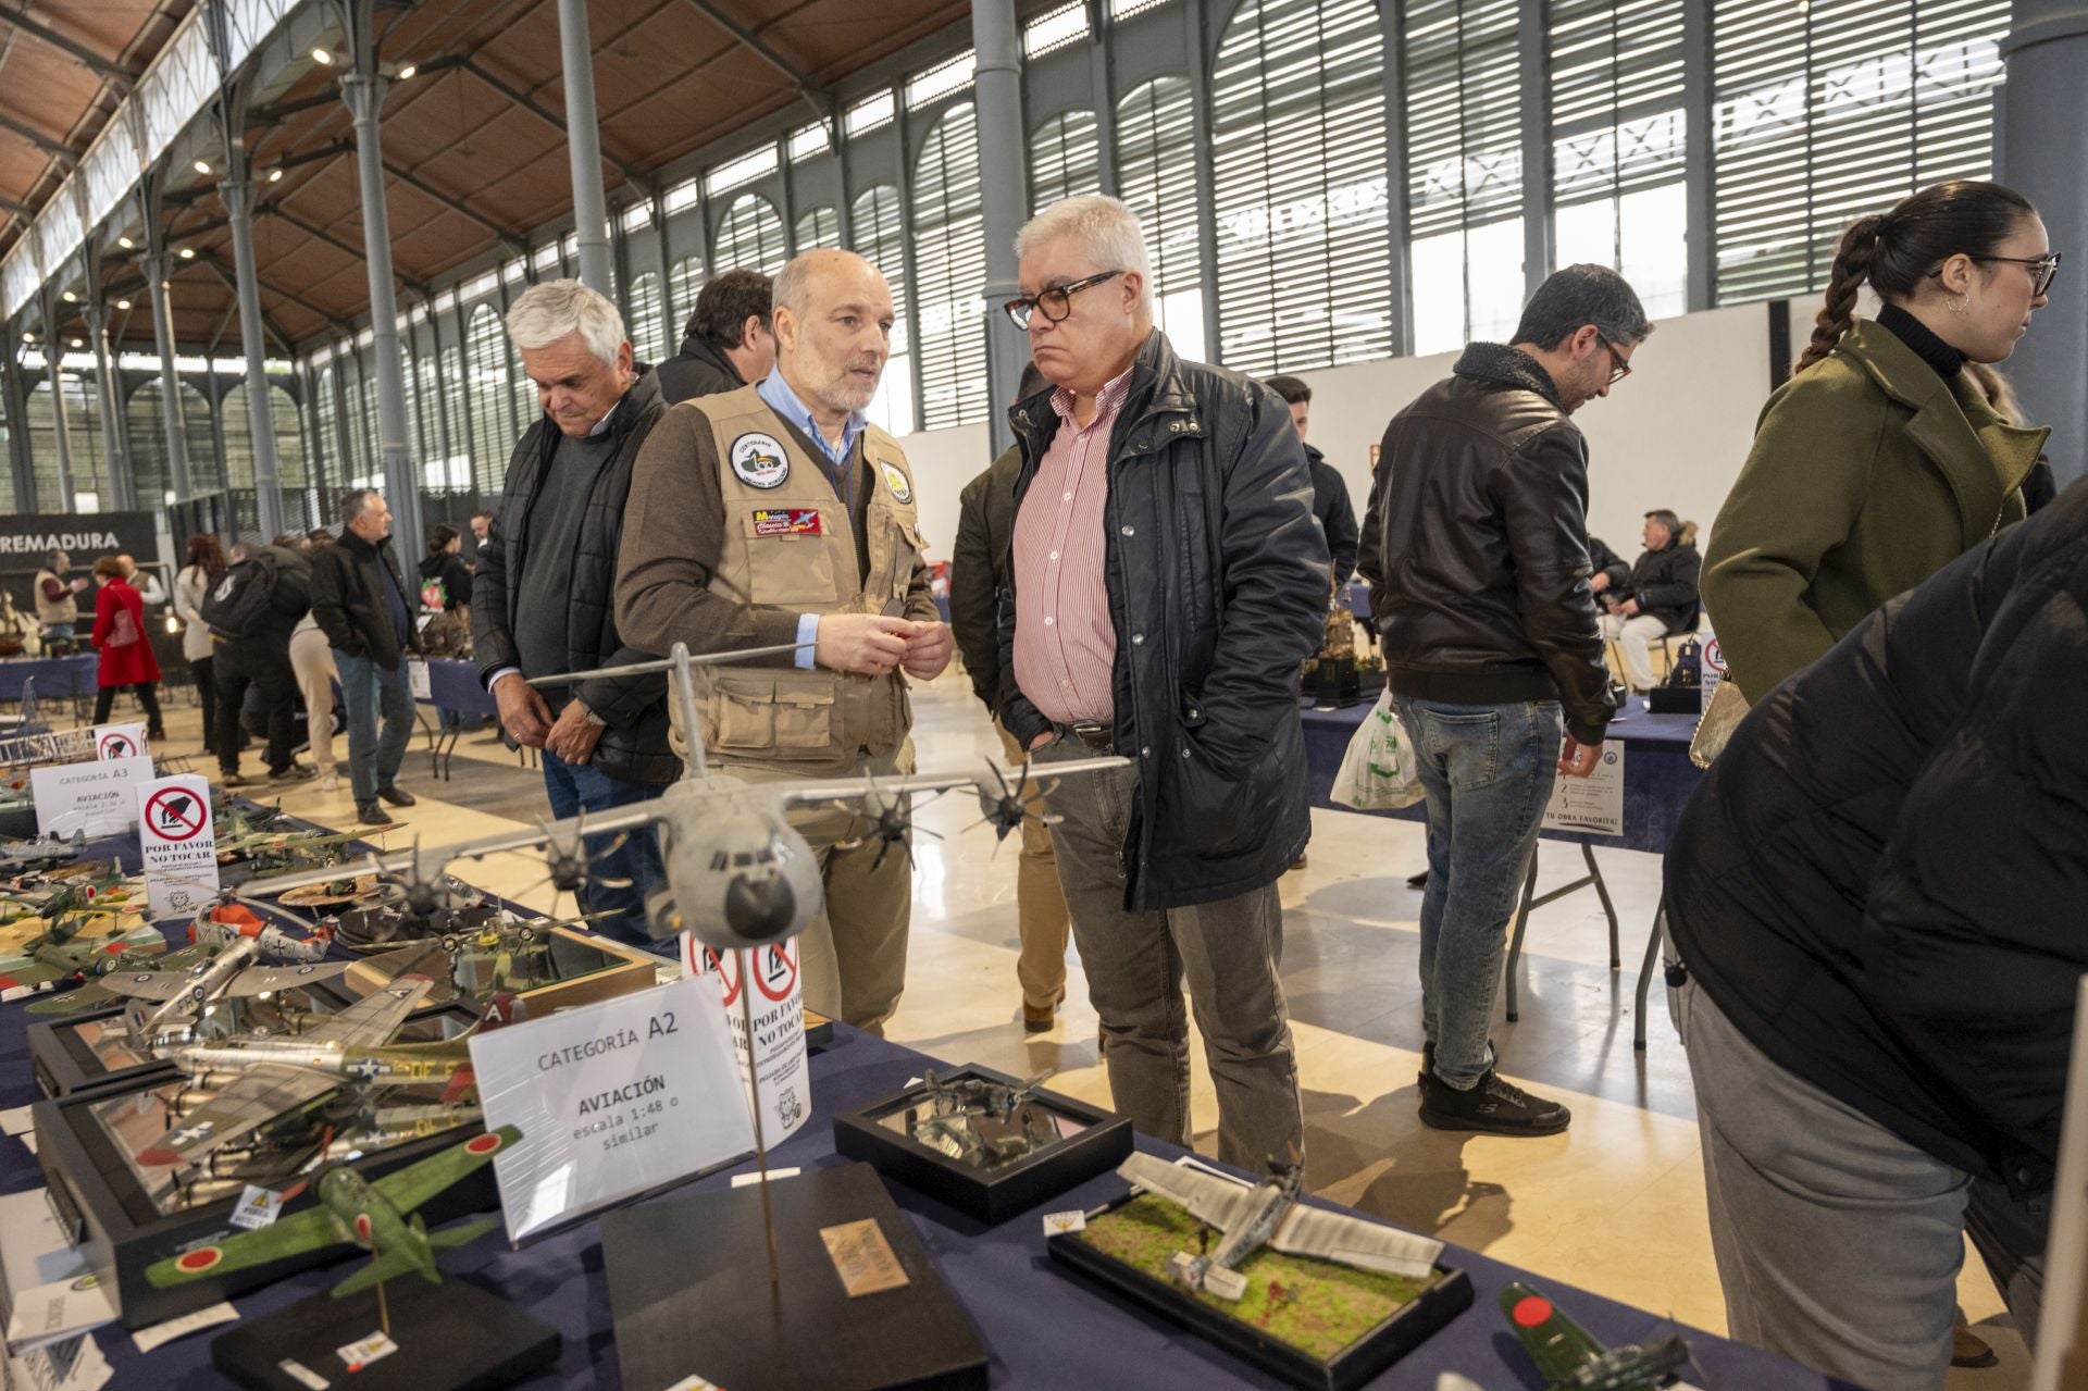
[[[631,466],[666,407],[631,359],[616,305],[576,280],[524,290],[507,334],[543,414],[507,462],[499,520],[478,547],[472,656],[507,735],[543,750],[551,815],[564,819],[656,798],[681,775],[664,675],[530,685],[651,658],[616,631],[616,551]],[[651,944],[645,896],[666,879],[656,838],[589,835],[589,850],[597,881],[583,906],[610,915],[603,932]],[[603,883],[614,879],[626,883]]]

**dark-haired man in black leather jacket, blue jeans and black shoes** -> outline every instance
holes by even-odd
[[[1363,556],[1428,796],[1422,1122],[1439,1130],[1531,1136],[1570,1122],[1495,1071],[1489,1032],[1553,779],[1593,773],[1612,714],[1587,441],[1570,416],[1610,395],[1650,332],[1622,276],[1568,265],[1524,305],[1512,345],[1470,345],[1378,449]]]

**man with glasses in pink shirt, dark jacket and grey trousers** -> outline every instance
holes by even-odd
[[[1123,203],[1067,198],[1017,244],[1009,309],[1057,388],[1009,416],[1000,725],[1044,762],[1132,760],[1050,798],[1117,1109],[1190,1142],[1186,980],[1219,1157],[1282,1165],[1303,1126],[1276,879],[1311,831],[1297,696],[1330,583],[1305,449],[1276,393],[1153,328]]]

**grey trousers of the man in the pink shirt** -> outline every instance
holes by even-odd
[[[1088,758],[1059,739],[1040,762]],[[1046,783],[1048,785],[1048,783]],[[1217,1086],[1217,1157],[1249,1172],[1305,1155],[1290,1015],[1276,975],[1282,900],[1276,886],[1190,909],[1123,906],[1123,833],[1138,769],[1069,777],[1050,794],[1059,883],[1088,998],[1102,1017],[1109,1092],[1132,1126],[1190,1145],[1188,1009]],[[1190,1005],[1182,1005],[1182,986]]]

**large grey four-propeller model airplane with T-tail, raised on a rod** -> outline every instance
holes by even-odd
[[[593,677],[622,677],[654,670],[672,675],[672,693],[681,708],[683,729],[699,729],[691,670],[702,664],[737,662],[756,656],[777,656],[796,647],[754,647],[745,652],[689,656],[681,643],[664,662],[637,662],[606,670],[570,673],[543,683],[574,683]],[[979,798],[983,823],[1000,838],[1029,819],[1025,806],[1027,767],[1011,777],[996,764],[969,773],[925,773],[912,777],[848,777],[800,779],[750,785],[737,777],[710,773],[704,741],[687,739],[687,775],[656,800],[624,806],[603,815],[580,815],[541,827],[503,831],[436,850],[405,850],[372,854],[367,869],[407,877],[405,902],[418,911],[434,902],[436,877],[455,858],[484,858],[507,850],[553,846],[553,883],[580,883],[591,860],[580,854],[589,835],[616,835],[658,827],[660,852],[666,860],[668,890],[649,904],[649,925],[656,938],[679,932],[693,934],[714,950],[735,950],[781,942],[806,929],[825,902],[818,856],[804,835],[789,825],[789,810],[808,804],[850,802],[883,823],[885,812],[906,804],[912,794],[938,794],[969,787]],[[1121,769],[1123,758],[1084,758],[1050,767],[1052,779]],[[599,856],[595,856],[599,858]],[[319,883],[336,871],[280,875],[253,883],[255,894],[280,894],[305,883]]]

